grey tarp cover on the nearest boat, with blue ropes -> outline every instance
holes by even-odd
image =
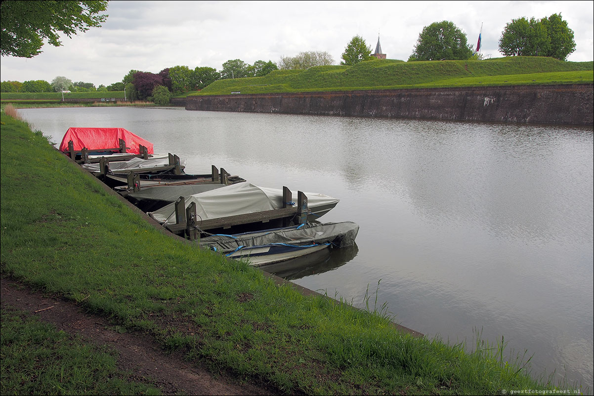
[[[345,248],[355,244],[358,232],[358,224],[352,221],[323,224],[308,223],[304,224],[304,226],[236,235],[211,235],[201,238],[198,244],[203,248],[222,253],[233,252],[242,246],[265,246],[272,243],[296,246],[330,243],[337,248]]]

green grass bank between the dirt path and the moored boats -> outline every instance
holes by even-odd
[[[213,372],[285,394],[567,389],[531,378],[503,340],[415,338],[397,331],[373,297],[364,312],[304,296],[244,262],[163,235],[39,131],[5,114],[1,121],[3,277],[64,296]]]

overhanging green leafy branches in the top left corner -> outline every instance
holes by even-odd
[[[99,14],[107,1],[2,1],[0,4],[0,54],[33,58],[43,40],[61,46],[59,34],[71,37],[78,31],[100,27],[108,15]]]

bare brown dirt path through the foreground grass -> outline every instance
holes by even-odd
[[[184,362],[176,354],[165,354],[160,347],[142,334],[119,333],[101,316],[84,313],[67,300],[32,292],[28,287],[2,278],[2,305],[29,311],[59,330],[80,334],[86,340],[107,345],[119,352],[118,365],[135,373],[137,381],[152,382],[164,395],[274,395],[271,389],[238,381],[221,375],[214,378],[206,369]],[[45,311],[38,311],[40,309]]]

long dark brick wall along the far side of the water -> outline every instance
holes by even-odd
[[[188,96],[187,110],[593,125],[594,85]]]

